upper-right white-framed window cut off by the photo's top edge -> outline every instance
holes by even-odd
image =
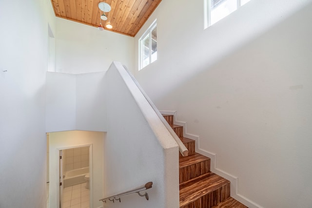
[[[205,27],[215,24],[250,0],[206,0],[207,23]]]

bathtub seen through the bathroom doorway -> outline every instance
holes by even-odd
[[[66,171],[63,180],[64,188],[85,183],[86,180],[84,179],[84,176],[87,173],[89,173],[89,167]]]

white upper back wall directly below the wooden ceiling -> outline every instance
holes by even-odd
[[[112,61],[134,65],[132,37],[57,18],[56,70],[81,74],[106,71]]]

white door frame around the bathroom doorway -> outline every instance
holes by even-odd
[[[79,147],[89,147],[89,175],[90,175],[90,179],[89,179],[89,206],[90,208],[93,207],[93,167],[92,167],[92,146],[93,144],[87,144],[87,145],[77,145],[77,146],[70,146],[70,147],[61,147],[61,148],[57,148],[57,160],[59,161],[59,156],[60,156],[60,151],[63,150],[67,150],[67,149],[72,149],[72,148],[79,148]],[[63,177],[60,175],[60,170],[59,170],[59,165],[57,166],[57,172],[59,173],[59,177]],[[59,180],[58,180],[59,183]],[[59,187],[59,184],[58,186]],[[60,208],[60,189],[57,189],[57,208]]]

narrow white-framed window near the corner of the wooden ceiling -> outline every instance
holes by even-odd
[[[139,70],[157,60],[156,20],[139,39]]]

